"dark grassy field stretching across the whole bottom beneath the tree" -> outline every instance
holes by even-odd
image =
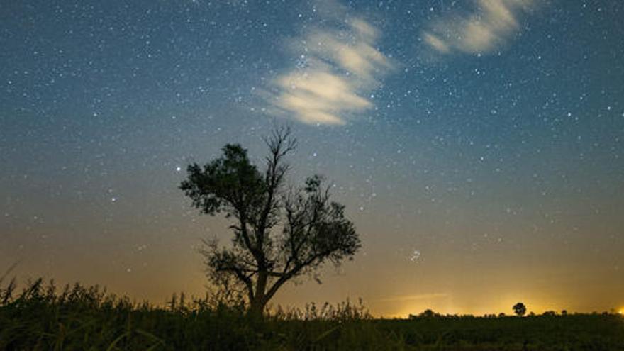
[[[0,350],[624,350],[612,313],[375,319],[360,304],[258,321],[214,299],[133,303],[97,287],[0,287]]]

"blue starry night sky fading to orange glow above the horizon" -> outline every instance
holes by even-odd
[[[274,303],[624,307],[624,3],[0,0],[0,270],[162,303],[224,218],[189,162],[290,123],[355,260]]]

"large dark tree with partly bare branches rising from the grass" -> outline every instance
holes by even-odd
[[[360,248],[345,206],[330,201],[322,177],[308,177],[300,188],[286,186],[290,167],[284,157],[296,147],[290,128],[274,128],[264,141],[269,155],[263,172],[246,149],[228,144],[203,167],[189,165],[180,185],[201,213],[233,219],[232,245],[207,240],[201,254],[208,278],[245,296],[250,313],[258,316],[284,283],[301,274],[320,283],[317,272],[325,262],[338,266]]]

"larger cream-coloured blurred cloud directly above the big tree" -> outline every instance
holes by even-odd
[[[263,92],[267,111],[303,123],[340,125],[372,108],[368,96],[394,67],[375,47],[377,40],[377,28],[362,18],[308,30],[290,45],[297,64]]]

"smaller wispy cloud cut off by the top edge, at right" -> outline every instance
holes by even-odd
[[[477,0],[472,13],[455,13],[435,21],[422,38],[441,53],[487,53],[503,45],[520,29],[519,17],[537,0]]]

